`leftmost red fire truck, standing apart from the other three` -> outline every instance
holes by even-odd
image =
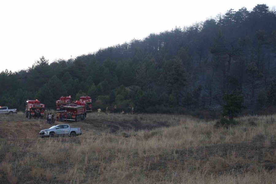
[[[45,105],[41,104],[39,100],[27,100],[25,102],[25,116],[29,119],[33,117],[43,117]]]

